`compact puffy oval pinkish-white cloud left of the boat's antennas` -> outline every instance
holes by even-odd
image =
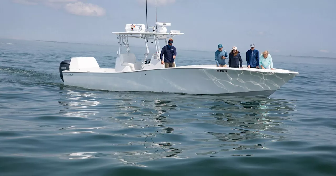
[[[95,4],[75,2],[65,5],[64,9],[72,14],[81,16],[104,16],[105,9]]]

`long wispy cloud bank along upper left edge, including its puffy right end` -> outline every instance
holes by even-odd
[[[62,8],[66,12],[80,16],[104,16],[106,11],[104,8],[91,4],[84,3],[79,0],[12,0],[15,3],[37,5],[43,4],[53,8]],[[155,3],[155,1],[154,1]]]

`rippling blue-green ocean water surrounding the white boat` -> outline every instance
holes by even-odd
[[[116,50],[0,39],[1,176],[336,175],[336,59],[270,53],[300,74],[268,98],[62,83],[60,61],[114,67]],[[214,64],[213,52],[177,53],[177,65]]]

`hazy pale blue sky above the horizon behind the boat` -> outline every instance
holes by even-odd
[[[222,44],[259,52],[336,58],[336,0],[157,0],[177,49],[213,51]],[[155,0],[147,0],[148,26]],[[0,38],[118,45],[112,32],[146,24],[146,0],[0,0]],[[144,46],[140,39],[130,45]],[[1,49],[1,48],[0,48]]]

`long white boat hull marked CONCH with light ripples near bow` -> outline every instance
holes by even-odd
[[[87,89],[243,97],[268,97],[297,74],[261,69],[207,67],[130,72],[63,71],[64,84]]]

